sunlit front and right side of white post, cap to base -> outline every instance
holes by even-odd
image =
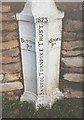
[[[62,18],[53,0],[32,3],[36,29],[37,102],[50,108],[63,97],[59,90]]]

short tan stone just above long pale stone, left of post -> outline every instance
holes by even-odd
[[[20,79],[20,73],[16,74],[5,74],[6,81],[16,81]]]

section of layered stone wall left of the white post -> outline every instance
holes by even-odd
[[[2,5],[2,71],[0,71],[3,95],[17,99],[22,84],[21,60],[19,49],[18,25],[11,4]],[[1,11],[0,11],[1,12]],[[1,54],[0,54],[1,57]],[[14,95],[15,94],[15,95]]]

